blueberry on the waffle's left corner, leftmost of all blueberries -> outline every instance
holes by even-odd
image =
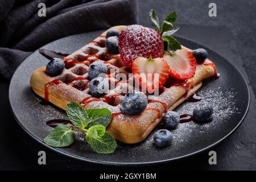
[[[46,66],[46,72],[49,76],[57,76],[65,67],[64,61],[59,58],[53,58]]]

